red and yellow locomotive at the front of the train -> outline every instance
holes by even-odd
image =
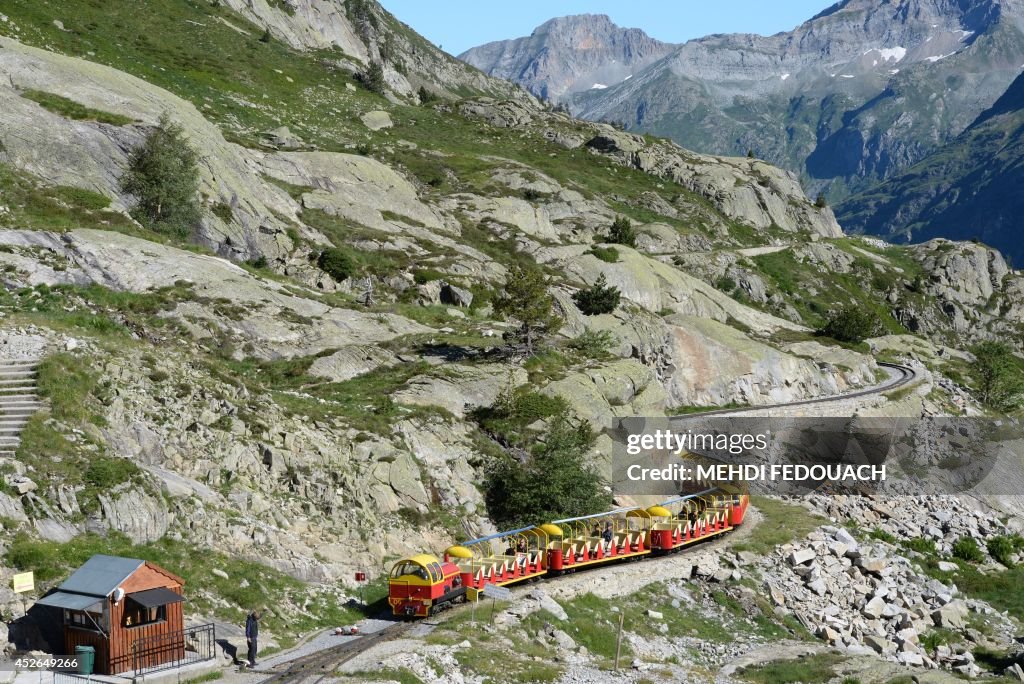
[[[395,615],[426,617],[451,603],[466,600],[459,566],[429,554],[399,560],[388,580],[388,603]]]

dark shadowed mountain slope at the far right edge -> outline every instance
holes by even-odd
[[[980,240],[1021,263],[1022,159],[1024,76],[956,139],[843,202],[843,224],[891,240]]]

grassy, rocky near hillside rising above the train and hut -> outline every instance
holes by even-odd
[[[207,614],[241,616],[244,576],[285,595],[279,634],[349,619],[353,570],[494,529],[480,484],[509,444],[476,410],[517,392],[599,429],[862,388],[871,346],[812,332],[848,304],[945,381],[916,413],[980,410],[956,348],[1024,323],[996,253],[845,237],[793,173],[435,74],[415,36],[358,38],[355,7],[393,26],[351,2],[4,6],[0,356],[41,358],[44,410],[0,461],[3,576],[166,554]],[[387,62],[383,94],[361,55]],[[201,153],[183,238],[119,182],[162,114]],[[616,219],[635,245],[608,242]],[[522,264],[563,322],[528,358],[494,310]],[[621,302],[588,315],[573,295],[602,277]],[[536,437],[550,414],[527,418]]]

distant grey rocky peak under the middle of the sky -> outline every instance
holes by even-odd
[[[604,14],[580,14],[546,22],[527,38],[474,47],[459,58],[558,101],[618,83],[672,48],[639,29],[620,29]]]

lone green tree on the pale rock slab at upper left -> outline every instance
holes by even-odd
[[[187,238],[199,223],[199,155],[167,114],[129,155],[121,189],[135,198],[132,216],[154,230]]]

